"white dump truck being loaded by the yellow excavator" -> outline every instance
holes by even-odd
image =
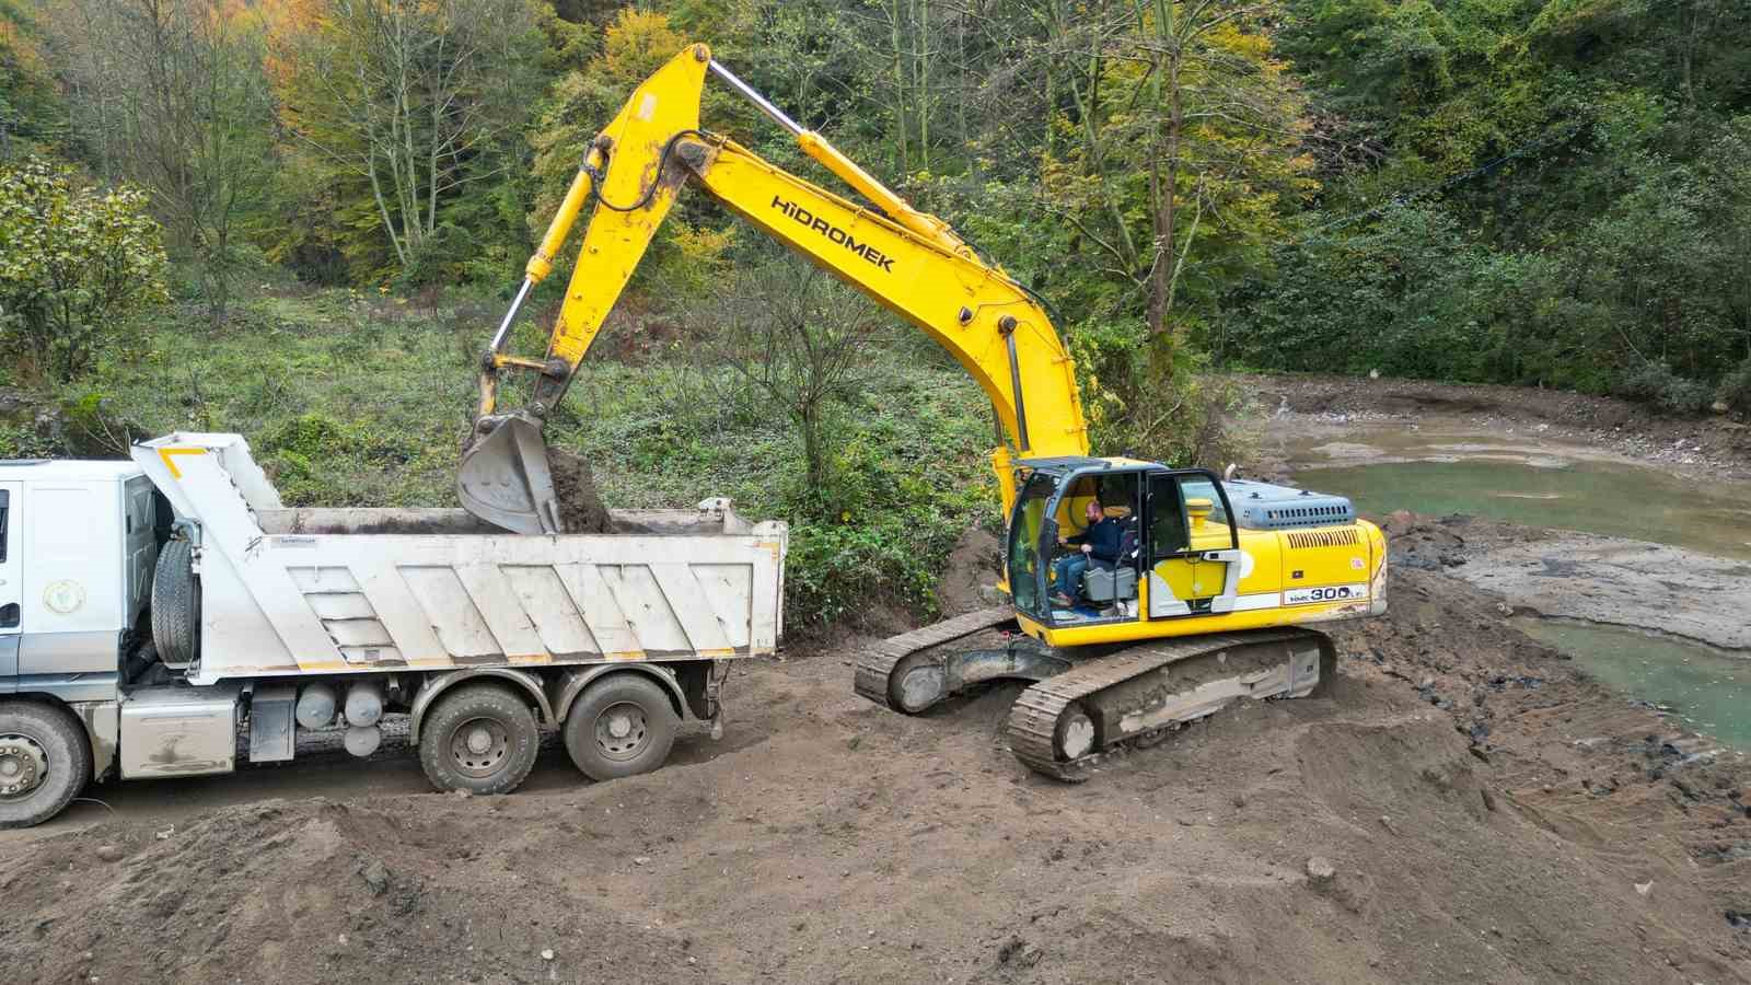
[[[368,757],[399,715],[440,790],[517,789],[543,731],[594,780],[658,768],[721,734],[730,663],[776,650],[788,531],[727,500],[611,517],[285,508],[240,435],[0,461],[0,827],[89,780],[284,762],[299,733]]]

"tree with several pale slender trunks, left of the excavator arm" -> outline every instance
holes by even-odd
[[[296,0],[271,44],[292,137],[368,188],[403,273],[443,252],[448,205],[520,163],[541,49],[529,0]]]

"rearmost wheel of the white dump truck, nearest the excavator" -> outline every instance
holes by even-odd
[[[566,715],[566,752],[592,780],[650,773],[669,759],[681,719],[664,689],[644,675],[608,675]]]

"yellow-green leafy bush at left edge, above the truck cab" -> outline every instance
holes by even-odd
[[[138,188],[102,191],[40,158],[0,170],[0,338],[25,377],[67,382],[163,301],[165,247]]]

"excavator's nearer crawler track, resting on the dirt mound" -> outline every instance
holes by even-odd
[[[1310,645],[1319,647],[1311,675]],[[1310,629],[1128,647],[1026,689],[1009,712],[1010,750],[1035,773],[1080,783],[1115,748],[1154,745],[1234,699],[1304,696],[1329,682],[1334,663],[1331,640]]]

